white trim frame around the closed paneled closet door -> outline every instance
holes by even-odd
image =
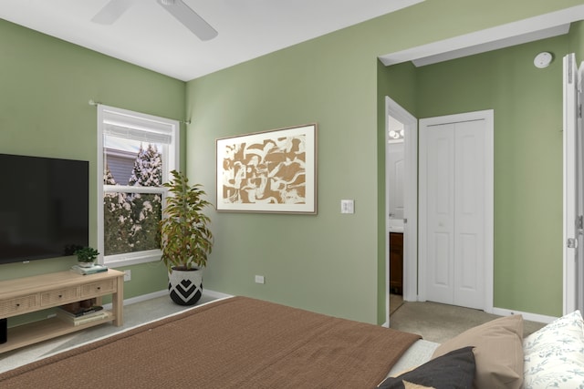
[[[462,121],[485,120],[485,312],[493,312],[493,245],[494,245],[494,111],[488,109],[484,111],[468,112],[463,114],[448,115],[437,118],[423,118],[420,119],[420,131],[429,126],[442,125],[448,123],[456,123]],[[424,143],[420,142],[420,166],[426,163],[426,153],[424,150]],[[419,212],[421,215],[426,213],[426,205],[423,201],[425,198],[425,183],[424,179],[420,179],[420,203]],[[420,241],[425,241],[425,229],[420,230]],[[423,244],[419,249],[420,260],[420,274],[419,274],[419,288],[418,299],[425,302],[426,295],[426,280],[427,280],[427,266],[426,248]]]

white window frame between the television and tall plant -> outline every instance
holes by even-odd
[[[129,266],[139,263],[146,263],[151,261],[160,261],[162,251],[149,250],[138,252],[127,252],[116,255],[104,255],[104,214],[103,214],[103,194],[106,191],[123,191],[130,192],[162,192],[162,204],[166,198],[166,189],[149,188],[149,187],[131,187],[116,185],[115,189],[109,185],[103,184],[104,172],[104,147],[103,139],[104,133],[111,130],[127,130],[132,133],[140,133],[141,131],[149,134],[156,134],[161,137],[170,136],[170,144],[164,145],[162,150],[162,182],[168,182],[170,172],[172,169],[178,169],[179,166],[179,130],[180,122],[169,118],[160,118],[152,115],[134,112],[127,109],[117,107],[109,107],[98,105],[98,251],[99,263],[110,267]]]

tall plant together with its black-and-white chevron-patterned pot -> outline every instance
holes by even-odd
[[[203,200],[202,185],[189,181],[176,170],[164,184],[168,188],[164,218],[160,222],[162,261],[169,271],[169,292],[173,302],[193,305],[203,294],[202,269],[213,249],[211,220],[203,209],[211,203]]]

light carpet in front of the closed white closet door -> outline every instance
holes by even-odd
[[[501,316],[437,302],[404,302],[391,314],[390,327],[406,333],[417,333],[427,341],[444,343],[476,325],[498,317]],[[524,320],[523,334],[527,336],[545,325]]]

